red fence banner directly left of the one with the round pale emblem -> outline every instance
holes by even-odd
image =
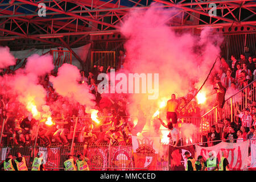
[[[108,146],[88,147],[86,157],[89,168],[92,170],[105,171],[108,167]],[[100,169],[96,169],[100,168]]]

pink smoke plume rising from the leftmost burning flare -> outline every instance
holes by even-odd
[[[5,53],[11,57],[10,52]],[[18,69],[14,75],[5,75],[2,78],[1,82],[6,86],[4,91],[24,106],[32,104],[40,110],[42,105],[46,104],[46,90],[39,84],[39,76],[51,72],[53,68],[51,55],[32,55],[28,57],[24,69]]]

